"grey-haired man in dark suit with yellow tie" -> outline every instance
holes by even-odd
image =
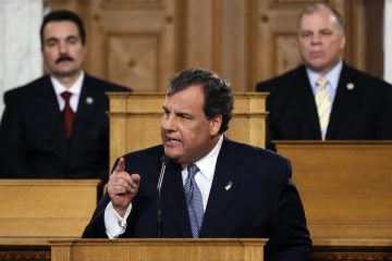
[[[307,7],[297,37],[304,65],[257,85],[270,92],[267,147],[278,139],[392,139],[392,87],[344,63],[338,11]]]

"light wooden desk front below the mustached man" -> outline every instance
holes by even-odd
[[[0,244],[79,237],[97,206],[99,179],[0,179]]]

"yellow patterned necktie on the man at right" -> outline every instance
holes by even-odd
[[[316,92],[316,104],[317,112],[320,121],[320,129],[322,140],[326,140],[327,127],[331,114],[331,97],[327,91],[328,79],[324,77],[320,77],[317,80],[317,92]]]

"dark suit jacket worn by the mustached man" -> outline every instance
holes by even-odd
[[[105,92],[119,90],[130,89],[85,75],[70,140],[49,76],[7,91],[0,125],[0,176],[107,179],[109,100]]]

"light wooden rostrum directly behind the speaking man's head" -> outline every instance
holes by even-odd
[[[108,92],[110,100],[110,165],[124,153],[161,144],[164,94]],[[262,92],[234,94],[228,137],[265,147],[266,97]]]

